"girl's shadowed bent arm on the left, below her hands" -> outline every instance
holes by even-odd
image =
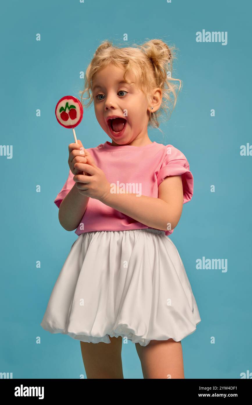
[[[59,222],[65,230],[71,231],[79,226],[89,198],[80,194],[76,183],[73,185],[59,206]]]

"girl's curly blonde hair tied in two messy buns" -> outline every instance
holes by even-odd
[[[82,102],[83,107],[88,107],[93,101],[92,81],[94,80],[95,74],[101,68],[109,64],[123,66],[125,68],[124,80],[130,84],[131,82],[126,79],[126,75],[129,71],[134,72],[138,79],[138,85],[140,85],[141,90],[143,90],[147,96],[150,106],[151,100],[149,93],[151,90],[156,87],[160,87],[162,90],[162,103],[160,108],[150,113],[148,122],[148,126],[158,128],[160,125],[159,118],[162,116],[162,112],[165,112],[167,116],[167,111],[170,111],[171,114],[176,105],[177,85],[174,81],[177,80],[180,82],[178,92],[181,89],[181,80],[168,76],[168,72],[170,72],[170,76],[172,75],[174,49],[174,47],[168,47],[168,45],[160,39],[149,40],[143,45],[133,44],[131,47],[122,48],[113,46],[109,40],[103,41],[95,51],[94,57],[86,69],[85,88],[80,91],[80,96],[82,102],[83,95],[87,92],[88,97],[84,98],[84,100],[90,98],[90,101],[86,105]],[[171,93],[174,96],[172,109],[170,108]]]

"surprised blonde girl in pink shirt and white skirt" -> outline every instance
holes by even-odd
[[[41,326],[80,341],[87,378],[124,378],[128,340],[144,378],[185,378],[181,339],[201,321],[168,237],[192,198],[193,176],[181,151],[147,133],[171,92],[176,104],[172,55],[162,40],[122,48],[105,41],[86,71],[81,100],[91,91],[88,105],[111,142],[69,145],[69,176],[54,202],[78,239]]]

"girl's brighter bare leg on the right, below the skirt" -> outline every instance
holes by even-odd
[[[181,341],[151,340],[147,346],[135,345],[143,378],[185,378]]]

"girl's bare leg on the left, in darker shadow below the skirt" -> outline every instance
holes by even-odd
[[[122,372],[122,337],[109,337],[111,343],[80,341],[87,378],[124,378]]]

